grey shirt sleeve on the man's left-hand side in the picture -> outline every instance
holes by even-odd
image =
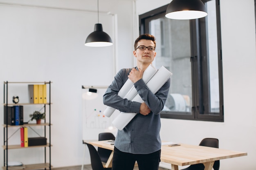
[[[128,79],[128,74],[131,69],[121,69],[115,76],[113,82],[107,88],[103,95],[103,104],[115,108],[124,113],[139,113],[141,103],[132,102],[128,99],[123,99],[118,96],[118,92]]]

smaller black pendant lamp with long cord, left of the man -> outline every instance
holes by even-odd
[[[85,46],[111,46],[110,36],[103,31],[102,24],[99,24],[99,0],[98,0],[98,24],[94,25],[94,31],[88,35],[85,40]]]

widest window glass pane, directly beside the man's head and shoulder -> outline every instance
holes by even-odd
[[[150,20],[157,55],[153,65],[173,73],[164,111],[191,112],[191,64],[189,20],[170,20],[165,16]]]

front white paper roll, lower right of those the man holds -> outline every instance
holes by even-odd
[[[166,81],[171,77],[172,73],[168,71],[164,66],[162,66],[157,73],[148,81],[146,84],[152,93],[157,93],[159,89],[166,83]],[[144,102],[139,94],[137,94],[132,101],[142,103]],[[124,127],[135,117],[137,113],[124,113],[121,112],[112,121],[112,124],[119,130],[123,130]]]

